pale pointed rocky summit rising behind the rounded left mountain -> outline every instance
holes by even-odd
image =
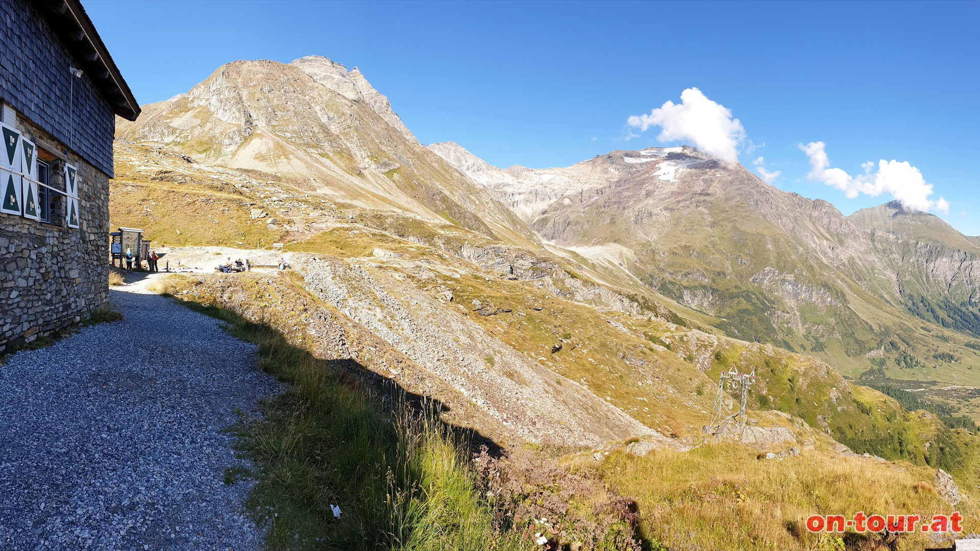
[[[398,130],[405,139],[418,143],[415,134],[402,123],[401,117],[391,110],[391,102],[388,98],[375,90],[358,68],[348,71],[343,65],[323,56],[303,57],[289,65],[310,75],[320,84],[347,99],[364,103],[380,115],[388,125]]]

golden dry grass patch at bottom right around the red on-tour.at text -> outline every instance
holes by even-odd
[[[977,529],[972,500],[952,507],[939,498],[928,468],[879,463],[816,451],[760,461],[735,444],[644,457],[615,452],[601,464],[609,483],[634,497],[640,531],[653,549],[899,550],[942,547],[921,532],[813,534],[813,514],[949,515],[960,511],[965,532]]]

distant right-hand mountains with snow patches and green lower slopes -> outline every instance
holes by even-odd
[[[976,239],[936,217],[894,208],[844,217],[689,147],[545,170],[501,170],[456,144],[430,147],[546,243],[702,312],[728,335],[816,354],[853,376],[880,367],[975,380],[978,357],[964,345],[980,330]]]

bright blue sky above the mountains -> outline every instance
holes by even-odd
[[[422,143],[543,168],[662,145],[629,117],[670,120],[652,110],[696,87],[740,121],[738,160],[763,157],[774,185],[850,214],[932,184],[927,208],[942,196],[937,214],[980,234],[977,3],[83,4],[140,103],[223,63],[318,54],[360,68]],[[811,142],[847,177],[811,174]]]

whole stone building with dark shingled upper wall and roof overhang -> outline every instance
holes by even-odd
[[[39,213],[47,223],[0,213],[0,357],[109,300],[116,117],[139,113],[79,0],[0,0],[0,119],[47,163],[50,199]],[[74,201],[64,193],[66,164],[77,169],[76,228],[65,216]]]

